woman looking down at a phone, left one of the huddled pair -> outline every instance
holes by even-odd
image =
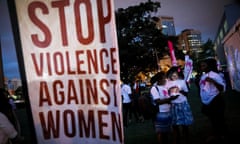
[[[167,78],[164,72],[159,72],[151,79],[153,84],[150,92],[155,104],[159,105],[159,112],[154,120],[155,130],[157,133],[158,144],[168,144],[169,133],[171,131],[171,100],[176,97],[170,97],[168,89],[165,87]]]

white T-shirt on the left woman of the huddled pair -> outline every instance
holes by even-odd
[[[156,87],[158,89],[156,89]],[[164,86],[153,86],[150,90],[151,92],[151,95],[153,97],[153,100],[157,100],[157,99],[160,99],[160,100],[163,100],[163,99],[166,99],[166,98],[169,98],[170,96],[168,95],[168,90],[166,87]],[[161,104],[159,105],[159,112],[169,112],[170,111],[170,104]]]

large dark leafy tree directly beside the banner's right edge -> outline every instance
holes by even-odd
[[[149,0],[116,11],[121,77],[133,79],[140,71],[157,69],[157,57],[168,53],[167,37],[156,27],[160,2]]]

